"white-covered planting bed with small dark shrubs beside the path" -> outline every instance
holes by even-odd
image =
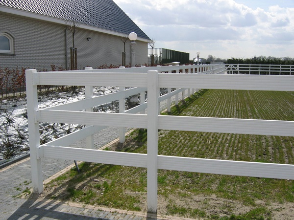
[[[99,96],[119,91],[117,87],[94,87],[93,96]],[[38,96],[39,109],[53,107],[82,100],[85,98],[85,89],[77,88],[75,92],[43,92]],[[97,112],[117,112],[118,102],[111,102],[94,107]],[[0,160],[4,159],[8,147],[17,147],[13,156],[27,154],[28,149],[28,122],[26,98],[2,100],[0,104]],[[61,137],[65,134],[83,128],[81,125],[40,123],[41,144]]]

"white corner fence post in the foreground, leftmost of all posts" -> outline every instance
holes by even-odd
[[[25,70],[26,102],[28,118],[29,151],[32,172],[33,193],[43,192],[42,162],[38,154],[40,146],[39,122],[36,115],[38,110],[38,79],[35,69]]]

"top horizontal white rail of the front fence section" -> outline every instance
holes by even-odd
[[[42,73],[40,85],[57,86],[116,86],[116,87],[147,87],[147,74],[144,73]],[[58,82],[55,82],[58,78]],[[128,81],[127,79],[132,79]],[[136,79],[136,80],[135,80]],[[214,88],[214,89],[245,89],[245,90],[287,90],[293,91],[292,76],[268,76],[253,75],[221,75],[221,74],[159,74],[160,88]]]

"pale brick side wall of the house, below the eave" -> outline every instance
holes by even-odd
[[[15,55],[0,55],[2,68],[35,68],[51,70],[70,66],[72,33],[65,31],[66,25],[33,20],[0,12],[0,31],[7,31],[14,37]],[[90,37],[91,40],[87,41]],[[67,40],[66,40],[67,39]],[[67,48],[66,48],[67,41]],[[123,42],[121,37],[79,28],[74,36],[77,48],[78,68],[97,68],[103,64],[121,65]],[[136,42],[136,64],[147,63],[147,43]],[[67,51],[67,53],[66,53]],[[66,56],[67,54],[67,56]],[[126,64],[130,63],[130,46],[126,43]]]

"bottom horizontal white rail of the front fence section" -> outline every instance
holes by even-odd
[[[109,152],[46,145],[42,156],[147,168],[147,154]],[[158,169],[208,174],[294,179],[293,165],[158,155]]]

